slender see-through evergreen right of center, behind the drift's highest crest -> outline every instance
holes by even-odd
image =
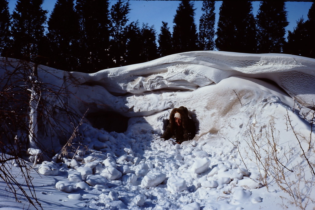
[[[213,50],[215,47],[215,1],[203,1],[201,10],[204,14],[199,20],[199,47]]]

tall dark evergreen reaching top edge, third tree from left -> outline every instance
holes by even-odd
[[[73,0],[57,0],[48,20],[49,66],[77,71],[79,19]]]

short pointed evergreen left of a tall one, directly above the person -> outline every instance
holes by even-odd
[[[161,57],[166,55],[170,55],[173,53],[172,49],[172,34],[169,32],[169,27],[167,27],[167,23],[162,21],[161,33],[158,35],[159,43],[158,53]]]

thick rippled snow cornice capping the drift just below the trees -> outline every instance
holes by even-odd
[[[82,87],[99,86],[105,90],[104,97],[193,91],[232,76],[267,79],[301,104],[314,106],[315,59],[288,54],[196,51],[93,74],[65,72],[64,75]]]

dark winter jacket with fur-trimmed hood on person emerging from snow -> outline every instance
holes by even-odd
[[[181,125],[178,126],[175,122],[175,113],[178,112],[181,115]],[[188,110],[186,107],[181,106],[172,110],[169,116],[169,124],[165,129],[165,132],[161,138],[168,140],[170,138],[175,139],[176,143],[181,144],[183,141],[191,140],[196,135],[196,126],[191,118],[188,116]]]

